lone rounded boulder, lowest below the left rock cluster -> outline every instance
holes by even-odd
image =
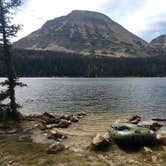
[[[64,150],[65,150],[65,146],[59,142],[56,142],[48,148],[47,153],[56,154],[56,153],[58,153],[60,151],[64,151]]]

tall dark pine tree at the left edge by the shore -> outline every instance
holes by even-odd
[[[12,64],[12,46],[10,43],[11,37],[15,36],[20,29],[19,25],[11,24],[12,12],[21,5],[20,0],[0,0],[0,46],[2,48],[3,62],[6,66],[7,80],[1,82],[5,90],[0,92],[0,109],[5,112],[7,119],[17,120],[19,113],[15,99],[15,87],[22,85],[15,75]],[[4,88],[3,88],[4,89]],[[6,100],[9,100],[7,103]],[[5,103],[5,104],[4,104]]]

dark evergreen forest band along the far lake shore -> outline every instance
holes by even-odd
[[[19,77],[166,76],[166,55],[114,58],[52,51],[15,50],[13,59]],[[2,61],[0,61],[0,76],[6,76]]]

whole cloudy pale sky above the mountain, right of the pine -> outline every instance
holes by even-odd
[[[24,0],[14,18],[14,23],[23,28],[14,40],[37,30],[47,20],[76,9],[106,14],[148,42],[166,34],[165,0]]]

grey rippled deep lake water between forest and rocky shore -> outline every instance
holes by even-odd
[[[22,78],[24,113],[90,112],[166,117],[166,78]]]

